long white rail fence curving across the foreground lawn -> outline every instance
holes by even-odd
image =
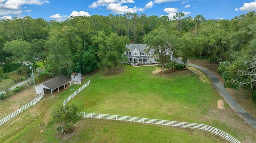
[[[108,114],[94,114],[94,113],[81,113],[81,116],[84,118],[95,118],[95,119],[111,119],[111,120],[118,120],[118,121],[132,121],[137,123],[150,123],[156,125],[167,125],[172,127],[187,127],[191,129],[202,129],[204,131],[210,131],[215,135],[226,139],[232,143],[240,143],[237,139],[221,131],[215,127],[211,127],[209,125],[203,125],[199,123],[188,123],[188,122],[180,122],[180,121],[168,121],[163,119],[148,119],[148,118],[138,118],[138,117],[130,117],[130,116],[118,116],[118,115],[108,115]]]

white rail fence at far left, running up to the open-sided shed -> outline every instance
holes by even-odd
[[[13,112],[12,114],[8,115],[7,117],[5,117],[4,119],[0,120],[0,125],[2,125],[3,123],[5,123],[6,121],[8,121],[9,119],[12,119],[14,116],[20,114],[20,112],[22,112],[23,110],[29,108],[30,106],[36,104],[36,102],[38,102],[41,98],[43,97],[43,94],[40,94],[39,96],[36,97],[36,99],[32,100],[31,102],[29,102],[28,104],[26,104],[25,106],[23,106],[22,108],[16,110],[15,112]]]

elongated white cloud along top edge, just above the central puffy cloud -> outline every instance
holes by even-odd
[[[97,8],[98,6],[108,6],[111,3],[131,4],[133,0],[98,0],[93,2],[88,8]]]

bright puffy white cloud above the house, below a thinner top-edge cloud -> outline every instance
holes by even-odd
[[[122,6],[121,3],[110,3],[106,7],[106,10],[110,10],[113,14],[125,14],[127,12],[136,13],[138,8],[135,6],[134,8],[128,8],[128,6]]]

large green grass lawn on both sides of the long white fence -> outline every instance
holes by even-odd
[[[237,131],[210,115],[223,99],[212,85],[202,82],[190,71],[153,74],[155,67],[117,68],[112,74],[97,72],[88,76],[90,85],[70,100],[83,106],[82,112],[135,116],[207,124],[241,140],[245,131]],[[74,85],[75,90],[81,85]],[[65,90],[54,97],[44,96],[36,105],[0,126],[0,142],[226,142],[200,130],[164,127],[122,121],[82,119],[73,133],[62,134],[49,125],[52,108],[62,106],[74,92]]]

